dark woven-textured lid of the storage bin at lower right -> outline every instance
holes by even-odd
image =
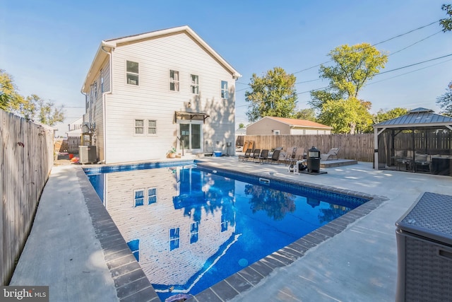
[[[401,231],[452,246],[452,196],[424,192],[396,226]]]

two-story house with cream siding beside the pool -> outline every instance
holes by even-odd
[[[82,87],[98,159],[227,151],[240,76],[189,26],[102,41]]]

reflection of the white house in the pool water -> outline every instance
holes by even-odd
[[[238,237],[234,180],[187,167],[107,173],[104,196],[157,291],[189,290]]]

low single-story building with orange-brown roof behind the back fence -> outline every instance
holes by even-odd
[[[246,135],[331,134],[333,127],[309,120],[285,117],[263,117],[246,127]]]

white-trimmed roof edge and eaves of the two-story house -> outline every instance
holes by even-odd
[[[147,40],[150,38],[160,37],[164,35],[174,35],[178,33],[186,33],[190,37],[192,37],[196,42],[198,42],[201,47],[203,47],[206,52],[208,52],[213,58],[215,58],[222,66],[225,66],[225,69],[230,71],[234,79],[239,79],[242,75],[239,74],[237,70],[234,69],[229,63],[226,62],[225,59],[223,59],[218,52],[215,52],[212,47],[210,47],[201,37],[194,32],[191,28],[189,28],[188,25],[179,26],[176,28],[167,28],[164,30],[155,30],[148,33],[141,33],[137,35],[128,35],[125,37],[117,37],[114,39],[109,40],[103,40],[100,43],[99,48],[97,49],[97,52],[95,54],[95,58],[93,60],[93,63],[90,66],[90,70],[88,71],[88,74],[85,78],[85,82],[83,83],[82,92],[87,93],[89,89],[90,83],[93,81],[93,78],[96,76],[97,71],[100,69],[100,66],[102,66],[102,63],[105,61],[105,59],[108,56],[107,52],[111,52],[115,47],[120,46],[124,43],[134,43],[134,42],[141,42],[142,40]]]

